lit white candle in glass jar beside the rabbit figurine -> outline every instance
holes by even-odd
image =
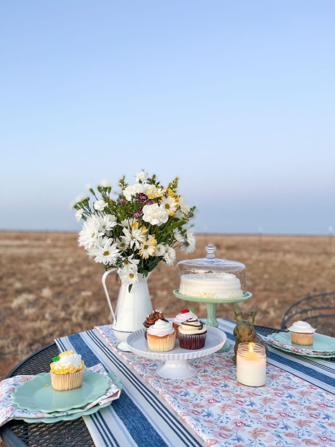
[[[267,381],[265,348],[257,343],[240,343],[236,355],[237,380],[243,385],[262,386]]]

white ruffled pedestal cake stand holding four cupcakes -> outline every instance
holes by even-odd
[[[190,365],[188,360],[199,359],[200,357],[213,354],[220,349],[226,339],[226,334],[220,329],[207,326],[205,345],[202,349],[189,350],[179,346],[179,339],[172,351],[153,352],[148,348],[148,343],[144,337],[145,329],[139,329],[127,337],[129,350],[141,357],[151,360],[163,360],[164,365],[157,368],[157,374],[170,379],[188,378],[197,373],[197,368]]]

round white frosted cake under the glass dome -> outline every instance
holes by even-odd
[[[232,273],[196,273],[182,275],[179,293],[199,298],[241,298],[241,283]]]

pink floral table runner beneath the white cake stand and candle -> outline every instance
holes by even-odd
[[[118,351],[111,326],[96,329],[209,446],[334,445],[334,395],[288,372],[284,360],[282,369],[269,360],[259,388],[237,382],[231,351],[193,359],[195,376],[170,380],[157,375],[161,362]]]

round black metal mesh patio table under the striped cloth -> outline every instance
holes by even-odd
[[[267,326],[255,326],[263,335],[280,332]],[[5,378],[18,374],[38,374],[50,370],[50,359],[59,354],[56,343],[35,352],[6,375]],[[6,447],[24,446],[93,446],[91,435],[82,418],[72,421],[56,422],[55,424],[28,424],[23,421],[10,421],[0,427],[0,437]]]

